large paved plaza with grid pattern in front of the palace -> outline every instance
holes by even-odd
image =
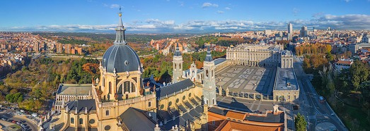
[[[229,66],[216,73],[216,85],[231,92],[272,94],[276,68]]]

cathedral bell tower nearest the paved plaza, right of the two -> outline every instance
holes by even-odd
[[[207,45],[207,56],[203,63],[203,101],[208,106],[216,105],[216,82],[214,77],[214,61]]]

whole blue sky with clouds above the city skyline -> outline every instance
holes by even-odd
[[[370,30],[370,0],[3,0],[0,31],[127,33]]]

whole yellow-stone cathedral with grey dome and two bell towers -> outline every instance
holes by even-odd
[[[182,77],[183,56],[178,45],[173,56],[173,82],[159,84],[153,77],[141,77],[142,64],[125,41],[122,13],[119,17],[115,42],[100,62],[100,78],[93,80],[91,87],[59,85],[52,123],[46,130],[205,130],[204,112],[216,104],[209,48],[204,88],[199,80]]]

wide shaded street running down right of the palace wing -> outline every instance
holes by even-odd
[[[301,66],[302,61],[294,56],[294,71],[299,82],[301,113],[308,120],[308,130],[315,130],[318,123],[328,122],[337,127],[337,130],[347,130],[345,125],[337,117],[330,106],[325,103],[320,103],[318,94],[311,84],[310,77],[304,73]]]

